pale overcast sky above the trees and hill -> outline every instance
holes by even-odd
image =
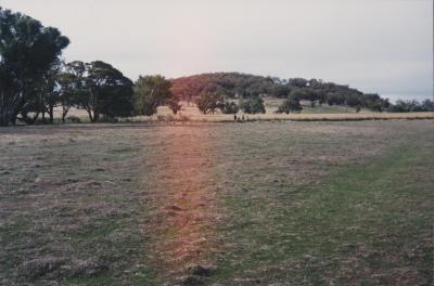
[[[136,80],[208,72],[318,78],[433,98],[433,0],[0,0],[58,27],[66,61]]]

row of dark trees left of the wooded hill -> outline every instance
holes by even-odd
[[[136,82],[102,61],[64,63],[69,39],[56,28],[0,8],[0,125],[65,120],[72,107],[85,109],[92,122],[152,115],[159,105],[176,114],[179,100],[162,76]]]

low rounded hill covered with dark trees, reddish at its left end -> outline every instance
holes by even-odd
[[[316,104],[348,105],[383,110],[390,105],[379,94],[367,94],[348,86],[320,79],[263,77],[240,73],[201,74],[173,79],[171,91],[191,101],[204,93],[217,92],[228,98],[272,96],[310,101]]]

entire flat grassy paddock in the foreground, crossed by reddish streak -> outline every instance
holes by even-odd
[[[432,285],[433,150],[432,120],[2,128],[0,284]]]

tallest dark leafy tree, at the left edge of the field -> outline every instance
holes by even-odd
[[[28,113],[37,117],[42,108],[38,96],[43,76],[69,40],[56,28],[1,8],[0,39],[0,125],[14,123],[18,114],[31,121]]]

